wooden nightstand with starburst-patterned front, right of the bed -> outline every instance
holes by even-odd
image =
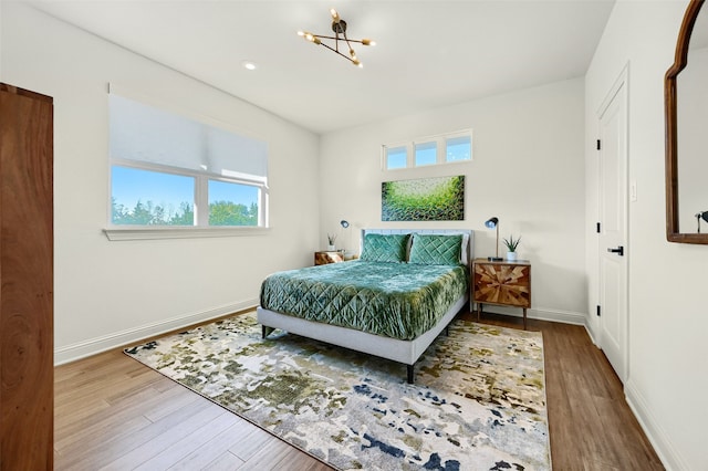
[[[523,310],[523,329],[527,328],[527,308],[531,307],[531,263],[527,260],[472,262],[472,301],[477,303],[477,320],[482,304],[514,306]]]

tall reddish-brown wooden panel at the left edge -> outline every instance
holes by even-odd
[[[0,469],[53,467],[52,98],[0,84]]]

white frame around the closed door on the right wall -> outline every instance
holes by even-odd
[[[620,377],[620,374],[617,374],[617,377],[620,377],[620,380],[622,381],[622,384],[626,384],[627,379],[629,378],[629,260],[632,258],[632,250],[629,248],[629,250],[627,250],[627,245],[629,245],[629,186],[631,186],[631,181],[629,181],[629,63],[627,62],[625,64],[625,66],[622,69],[622,71],[620,72],[620,75],[617,76],[617,78],[615,80],[615,82],[613,83],[613,85],[610,87],[610,90],[607,91],[607,93],[605,94],[605,97],[603,98],[602,103],[600,104],[600,106],[597,107],[596,112],[595,112],[595,116],[596,116],[596,123],[597,123],[597,129],[596,129],[596,134],[597,134],[597,138],[600,139],[601,136],[601,119],[602,116],[604,115],[604,113],[607,111],[608,106],[612,104],[612,102],[615,100],[615,97],[617,96],[617,93],[624,87],[624,96],[623,96],[623,101],[622,103],[620,103],[620,106],[624,107],[624,161],[623,167],[624,167],[624,195],[622,200],[624,201],[623,206],[623,210],[624,210],[624,238],[625,238],[625,270],[623,273],[623,278],[624,278],[624,284],[625,284],[625,302],[624,302],[624,310],[625,310],[625,318],[622,320],[624,322],[624,335],[622,338],[622,342],[624,343],[624,355],[622,358],[622,368],[624,370],[624,377]],[[600,150],[597,150],[600,151]],[[602,205],[602,172],[601,172],[601,158],[600,155],[597,155],[597,163],[596,163],[596,171],[597,171],[597,181],[596,181],[596,187],[597,187],[597,220],[600,220],[600,210],[601,210],[601,205]],[[597,273],[597,293],[596,293],[596,299],[597,299],[597,305],[600,305],[600,302],[602,300],[602,271],[601,271],[601,263],[602,263],[602,255],[601,255],[601,250],[602,248],[600,247],[600,234],[596,234],[596,242],[595,242],[595,254],[596,254],[596,259],[595,259],[595,272]],[[597,321],[597,329],[596,329],[596,345],[597,347],[600,347],[602,349],[602,346],[604,344],[604,328],[603,328],[603,323],[604,320],[602,317],[602,314],[600,316],[600,320]]]

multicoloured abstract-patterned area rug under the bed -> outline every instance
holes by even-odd
[[[455,321],[402,364],[281,331],[254,313],[126,354],[341,469],[550,470],[540,333]]]

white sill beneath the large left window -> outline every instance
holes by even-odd
[[[124,227],[104,229],[103,233],[111,241],[122,240],[158,240],[158,239],[199,239],[209,237],[242,237],[264,236],[268,228],[254,227],[212,227],[212,228],[157,228],[157,227]]]

